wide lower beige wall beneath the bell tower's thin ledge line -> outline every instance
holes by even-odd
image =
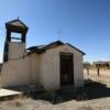
[[[29,59],[4,63],[1,70],[2,87],[28,85],[30,82]],[[26,65],[26,66],[24,66]]]

